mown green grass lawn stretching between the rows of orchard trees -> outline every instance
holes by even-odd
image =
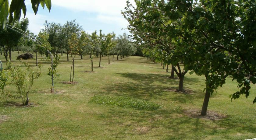
[[[12,54],[12,59],[18,55]],[[5,60],[4,56],[0,56]],[[103,57],[94,58],[94,72],[89,73],[90,59],[75,60],[76,84],[69,81],[71,61],[60,60],[55,79],[55,93],[50,93],[51,79],[47,75],[49,62],[42,62],[42,76],[29,94],[34,107],[19,106],[19,99],[0,98],[0,139],[232,139],[256,138],[256,86],[248,99],[244,96],[230,102],[229,95],[237,90],[231,78],[210,98],[208,110],[226,115],[219,121],[192,118],[184,110],[201,109],[205,87],[204,77],[185,75],[184,87],[192,93],[176,93],[178,79],[143,57],[127,57],[108,65]],[[20,65],[18,60],[12,61]],[[27,60],[35,66],[35,60]],[[6,67],[6,61],[3,61]],[[11,87],[9,87],[11,88]],[[90,102],[94,96],[113,99],[138,99],[157,103],[157,110],[106,106]],[[1,116],[2,115],[2,116]],[[1,117],[5,119],[1,122]]]

